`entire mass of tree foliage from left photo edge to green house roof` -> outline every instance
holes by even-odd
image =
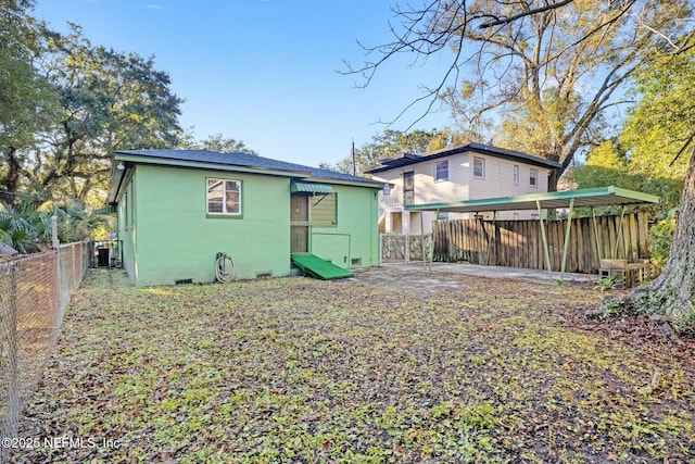
[[[77,25],[54,33],[28,1],[2,5],[0,200],[100,205],[114,150],[178,143],[181,100],[152,58],[93,46]]]

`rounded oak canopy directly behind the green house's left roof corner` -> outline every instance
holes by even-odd
[[[92,191],[103,200],[114,150],[176,146],[181,100],[152,58],[93,46],[77,25],[41,34],[39,67],[60,93],[61,114],[26,171],[54,200],[88,201]]]

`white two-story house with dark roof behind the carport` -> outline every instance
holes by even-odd
[[[431,231],[435,213],[406,211],[405,205],[542,193],[547,191],[551,171],[558,167],[556,162],[518,151],[465,143],[422,155],[403,153],[382,160],[365,174],[386,186],[379,192],[379,231],[421,234]],[[492,218],[492,212],[480,215]],[[472,216],[441,213],[439,218]],[[538,211],[497,213],[500,220],[535,217]]]

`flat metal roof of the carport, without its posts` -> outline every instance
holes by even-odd
[[[520,195],[517,197],[483,198],[445,203],[408,204],[408,211],[442,211],[451,213],[479,213],[485,211],[548,210],[557,208],[595,208],[658,203],[659,198],[618,187],[586,188]]]

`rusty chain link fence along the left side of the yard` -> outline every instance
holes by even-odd
[[[55,346],[70,297],[87,271],[90,243],[0,262],[0,430],[15,437],[22,409]],[[9,448],[0,448],[0,462]]]

